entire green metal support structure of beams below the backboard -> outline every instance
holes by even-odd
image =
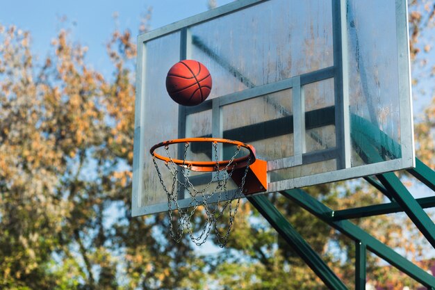
[[[434,191],[435,188],[435,172],[427,167],[422,161],[416,159],[416,168],[408,170],[411,175],[416,177],[420,182],[426,184]],[[393,212],[404,211],[409,218],[416,224],[420,232],[427,238],[429,243],[435,248],[434,235],[435,224],[427,216],[422,208],[435,207],[435,197],[420,198],[416,200],[407,191],[407,188],[400,180],[391,172],[382,175],[377,175],[385,188],[383,191],[388,191],[394,200],[400,202],[390,202],[386,204],[377,204],[368,207],[359,207],[354,209],[343,209],[334,211],[329,207],[316,200],[302,189],[293,189],[290,191],[281,191],[289,200],[292,200],[300,207],[309,211],[320,220],[324,221],[331,227],[334,227],[345,236],[348,236],[355,243],[355,289],[366,289],[366,257],[367,250],[384,259],[389,264],[399,269],[403,273],[409,275],[417,282],[429,290],[435,290],[435,277],[430,275],[424,269],[416,266],[402,255],[389,248],[375,237],[368,234],[360,227],[351,223],[348,219],[362,218],[366,216],[378,216],[381,214],[391,214]],[[370,183],[371,184],[371,183]],[[375,188],[378,188],[375,186]],[[296,230],[288,223],[273,204],[264,195],[254,195],[247,198],[256,209],[269,221],[269,223],[277,229],[277,232],[288,242],[290,247],[301,257],[308,266],[320,277],[329,289],[347,289],[343,282],[335,275],[333,271],[318,255],[313,251],[306,241],[300,236]],[[320,260],[319,260],[320,259]],[[344,288],[343,288],[344,287]]]

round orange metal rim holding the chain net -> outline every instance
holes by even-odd
[[[249,166],[250,164],[254,163],[255,161],[255,148],[252,145],[245,144],[240,141],[235,140],[229,140],[229,139],[221,139],[221,138],[181,138],[181,139],[174,139],[174,140],[167,140],[163,141],[162,143],[158,143],[151,147],[149,150],[149,153],[151,153],[152,156],[156,157],[157,159],[160,159],[165,162],[172,162],[177,164],[178,166],[181,166],[183,168],[188,168],[192,171],[203,171],[203,172],[211,172],[211,171],[217,171],[222,170],[225,167],[227,167],[230,163],[230,160],[223,160],[223,161],[187,161],[187,160],[181,160],[181,159],[170,159],[167,156],[162,156],[161,154],[157,154],[155,150],[159,147],[164,147],[167,145],[173,145],[178,143],[195,143],[195,142],[210,142],[210,143],[225,143],[225,144],[231,144],[236,145],[240,147],[244,147],[247,150],[249,150],[249,154],[246,156],[236,158],[232,161],[234,164],[234,168],[242,168]],[[232,166],[230,166],[233,169]]]

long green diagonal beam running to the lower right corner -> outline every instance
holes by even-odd
[[[426,271],[422,270],[411,261],[405,259],[401,255],[397,254],[394,250],[389,248],[381,241],[375,239],[360,227],[354,225],[348,220],[333,220],[331,218],[331,209],[322,202],[319,202],[315,198],[311,197],[308,193],[305,193],[301,189],[293,189],[292,191],[281,191],[282,195],[295,203],[300,207],[306,209],[314,216],[320,218],[325,223],[334,227],[339,232],[342,232],[346,236],[349,236],[354,241],[363,241],[366,244],[368,250],[375,253],[378,257],[381,257],[395,268],[399,269],[403,273],[409,275],[417,282],[420,282],[425,287],[435,287],[435,277],[429,275]]]

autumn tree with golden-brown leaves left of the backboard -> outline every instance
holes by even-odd
[[[131,219],[136,45],[129,31],[115,31],[107,47],[113,81],[85,64],[87,48],[66,31],[40,66],[28,32],[0,32],[1,287],[181,284],[190,273],[177,265],[193,263],[185,258],[191,248],[153,235],[162,218]]]

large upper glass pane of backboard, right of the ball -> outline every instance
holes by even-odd
[[[331,15],[331,1],[270,0],[192,26],[191,58],[213,75],[210,98],[332,66]]]

